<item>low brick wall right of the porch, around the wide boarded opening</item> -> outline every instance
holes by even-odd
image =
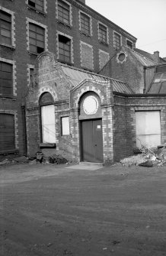
[[[136,147],[136,111],[160,111],[161,144],[166,142],[165,96],[114,96],[113,152],[114,161],[133,154]]]

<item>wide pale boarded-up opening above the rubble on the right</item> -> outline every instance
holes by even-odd
[[[136,112],[136,146],[152,147],[159,144],[161,144],[160,112]]]

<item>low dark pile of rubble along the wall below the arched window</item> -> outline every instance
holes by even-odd
[[[53,154],[46,157],[42,152],[37,152],[35,157],[15,157],[12,159],[6,158],[0,161],[0,166],[4,164],[68,164],[68,160],[59,154]]]

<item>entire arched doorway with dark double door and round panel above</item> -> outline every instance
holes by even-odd
[[[87,92],[80,100],[81,161],[103,162],[101,100]]]

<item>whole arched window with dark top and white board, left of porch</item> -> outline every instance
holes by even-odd
[[[56,143],[55,107],[49,92],[40,97],[40,117],[42,143]]]

